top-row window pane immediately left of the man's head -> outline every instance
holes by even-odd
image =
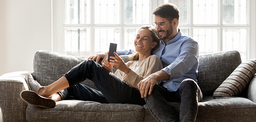
[[[124,0],[125,24],[150,24],[150,0]]]

